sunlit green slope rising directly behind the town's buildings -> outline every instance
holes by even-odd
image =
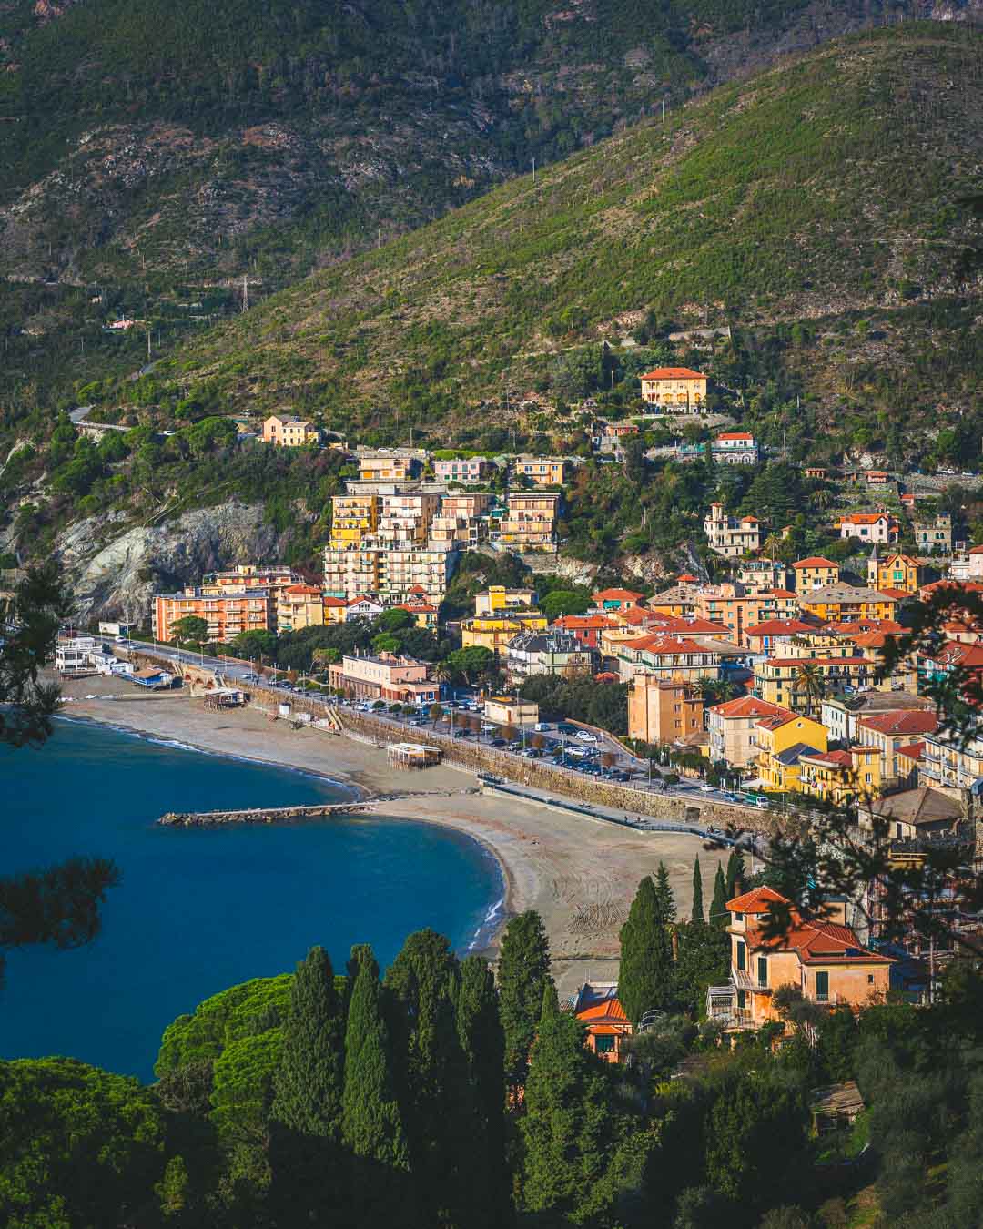
[[[806,451],[810,426],[820,450],[918,447],[979,414],[978,285],[960,273],[979,231],[960,200],[983,179],[982,65],[979,36],[908,25],[723,86],[313,274],[139,396],[480,442],[553,423],[523,401],[614,387],[617,410],[650,355],[687,360],[672,326],[731,324],[688,356],[723,408],[774,417],[779,442],[784,415]]]

